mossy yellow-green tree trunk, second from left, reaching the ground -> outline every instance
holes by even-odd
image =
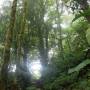
[[[25,76],[23,76],[20,72],[21,68],[20,66],[22,66],[22,68],[24,68],[23,74],[25,72],[27,72],[27,66],[26,66],[26,60],[27,60],[27,52],[26,52],[26,48],[24,49],[24,56],[22,54],[22,49],[23,49],[23,43],[24,43],[24,34],[25,34],[25,29],[26,29],[26,16],[27,16],[27,0],[23,0],[23,15],[22,15],[22,20],[21,20],[21,29],[20,32],[18,34],[17,37],[17,63],[16,63],[16,75],[17,75],[17,80],[18,80],[18,84],[19,87],[22,90],[26,90],[26,81],[25,80]],[[21,57],[23,57],[23,60],[25,63],[21,64]],[[23,61],[22,61],[23,62]],[[26,76],[27,77],[27,76]],[[22,83],[24,85],[22,85]]]

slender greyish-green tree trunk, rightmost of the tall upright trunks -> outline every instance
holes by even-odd
[[[62,44],[62,29],[61,29],[61,25],[60,25],[60,13],[59,13],[59,0],[56,0],[56,10],[57,10],[57,29],[59,30],[59,35],[60,35],[60,39],[59,39],[59,47],[60,47],[60,57],[64,60],[64,51],[63,51],[63,44]],[[62,12],[61,12],[62,14]]]

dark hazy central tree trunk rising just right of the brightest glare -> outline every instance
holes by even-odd
[[[44,23],[44,14],[45,14],[45,2],[44,0],[40,0],[40,11],[38,14],[38,18],[39,18],[39,23],[38,24],[38,38],[39,38],[39,52],[40,52],[40,57],[41,57],[41,63],[43,65],[43,67],[47,66],[48,64],[48,42],[47,42],[47,30],[45,30],[45,23]]]

